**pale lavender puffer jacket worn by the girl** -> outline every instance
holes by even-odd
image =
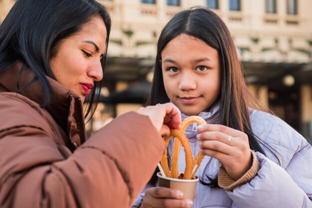
[[[256,152],[260,162],[258,174],[247,184],[233,191],[209,188],[198,183],[193,208],[312,208],[312,147],[307,140],[280,118],[258,110],[250,109],[252,128],[256,136],[276,150],[277,158],[262,145],[266,156]],[[211,112],[199,114],[207,123],[219,122],[218,106]],[[182,119],[187,117],[182,115]],[[189,138],[193,156],[199,151],[197,131],[189,126],[185,132]],[[170,151],[170,145],[169,145]],[[209,166],[206,164],[210,161]],[[185,155],[181,147],[179,171],[185,169]],[[214,176],[219,168],[216,159],[205,156],[197,176]],[[151,187],[149,184],[147,188]],[[133,208],[142,204],[143,193]]]

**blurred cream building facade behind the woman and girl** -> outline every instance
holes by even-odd
[[[98,0],[112,31],[104,100],[91,124],[136,110],[149,80],[157,37],[172,15],[190,6],[213,9],[226,23],[249,89],[312,142],[312,0]],[[0,22],[15,0],[0,0]],[[118,93],[120,92],[120,93]],[[140,97],[140,96],[139,96]],[[95,127],[95,128],[98,128]]]

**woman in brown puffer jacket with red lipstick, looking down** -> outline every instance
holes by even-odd
[[[152,176],[161,135],[181,121],[173,104],[86,139],[110,26],[96,0],[17,0],[0,25],[1,208],[130,207]]]

